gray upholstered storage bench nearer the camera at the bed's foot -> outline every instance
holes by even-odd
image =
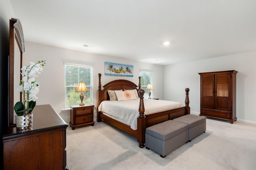
[[[188,142],[189,125],[168,120],[146,128],[145,146],[164,158],[168,153]]]

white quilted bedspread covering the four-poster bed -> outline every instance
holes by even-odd
[[[139,104],[138,100],[124,100],[124,101],[103,101],[98,107],[99,111],[107,113],[112,117],[118,118],[123,123],[130,125],[134,130],[137,129],[137,118],[139,116]],[[144,98],[145,115],[156,113],[159,111],[174,109],[183,107],[179,102],[172,102],[166,100],[150,100]]]

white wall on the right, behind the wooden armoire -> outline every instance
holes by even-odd
[[[164,66],[164,100],[184,103],[190,88],[191,112],[200,113],[199,72],[236,70],[236,117],[238,121],[256,123],[256,52],[242,53]]]

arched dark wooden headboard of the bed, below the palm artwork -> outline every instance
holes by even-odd
[[[132,90],[136,89],[137,92],[140,90],[141,84],[140,84],[140,77],[139,77],[139,85],[137,86],[133,82],[129,80],[113,80],[111,82],[108,82],[104,86],[102,86],[104,89],[101,90],[101,74],[98,74],[99,77],[99,83],[98,83],[98,90],[97,90],[97,107],[100,105],[100,103],[104,100],[110,100],[108,96],[108,90]]]

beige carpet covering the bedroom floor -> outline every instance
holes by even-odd
[[[255,170],[256,125],[206,119],[206,133],[165,158],[104,123],[67,128],[70,170]]]

